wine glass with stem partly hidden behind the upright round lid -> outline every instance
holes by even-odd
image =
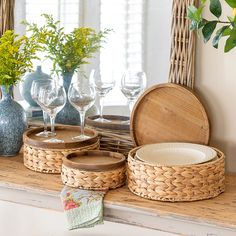
[[[130,115],[135,100],[146,88],[146,74],[143,71],[127,71],[121,79],[121,92],[128,99]]]

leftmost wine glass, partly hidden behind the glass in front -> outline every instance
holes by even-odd
[[[51,79],[38,79],[33,81],[32,86],[31,86],[31,90],[30,90],[30,94],[32,99],[41,107],[39,101],[38,101],[38,97],[39,97],[39,90],[42,86],[48,85],[52,82]],[[42,109],[42,107],[41,107]],[[47,120],[48,120],[48,116],[47,113],[42,109],[43,111],[43,123],[44,123],[44,130],[40,133],[37,133],[36,136],[39,137],[50,137],[53,136],[53,133],[47,130]]]

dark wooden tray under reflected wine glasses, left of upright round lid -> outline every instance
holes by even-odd
[[[123,130],[129,131],[129,117],[127,116],[117,116],[117,115],[103,115],[104,119],[110,122],[99,122],[96,119],[99,116],[89,116],[86,118],[86,124],[91,127],[96,127],[100,129],[111,129],[111,130]]]

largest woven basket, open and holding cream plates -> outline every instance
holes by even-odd
[[[128,157],[128,187],[140,197],[160,201],[195,201],[218,196],[225,190],[225,156],[210,162],[185,166],[158,166]]]

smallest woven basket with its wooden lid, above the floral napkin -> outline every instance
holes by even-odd
[[[104,156],[105,161],[102,160]],[[82,163],[74,161],[75,158],[82,159]],[[109,159],[115,159],[115,163],[109,163]],[[126,182],[125,156],[108,151],[71,153],[63,157],[61,178],[65,185],[74,188],[109,190],[121,187]]]

